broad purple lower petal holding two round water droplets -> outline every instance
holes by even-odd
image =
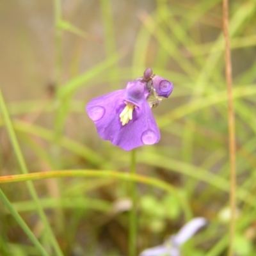
[[[157,143],[160,132],[147,101],[134,108],[132,120],[122,125],[119,115],[125,106],[124,90],[93,99],[86,105],[86,111],[95,123],[100,138],[124,150]]]

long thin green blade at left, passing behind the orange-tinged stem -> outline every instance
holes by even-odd
[[[3,114],[4,123],[6,125],[6,129],[9,134],[10,141],[12,143],[12,147],[14,149],[15,155],[16,155],[18,163],[20,165],[20,170],[23,174],[28,174],[28,167],[26,166],[24,157],[22,156],[22,151],[20,149],[15,131],[13,129],[13,125],[12,125],[8,110],[6,108],[6,104],[4,102],[4,98],[3,98],[1,90],[0,90],[0,109]],[[60,246],[59,246],[58,242],[56,241],[56,237],[54,236],[52,229],[49,225],[47,217],[45,216],[44,210],[42,209],[42,207],[40,205],[40,201],[36,194],[36,190],[35,190],[35,187],[33,186],[33,183],[31,181],[27,181],[26,184],[28,186],[29,193],[30,193],[31,197],[33,198],[33,200],[36,204],[38,214],[39,214],[42,222],[44,223],[45,230],[47,231],[47,234],[49,236],[49,241],[52,243],[52,247],[54,248],[56,255],[58,255],[58,256],[63,255],[60,250]]]

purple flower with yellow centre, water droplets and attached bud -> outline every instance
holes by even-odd
[[[108,93],[86,105],[100,138],[124,150],[152,145],[160,140],[151,108],[161,102],[158,93],[163,97],[170,95],[172,83],[159,76],[154,80],[154,77],[151,68],[147,68],[144,77],[127,83],[124,90]],[[163,81],[169,84],[161,86]]]

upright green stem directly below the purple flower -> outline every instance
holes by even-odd
[[[135,149],[131,151],[131,168],[130,175],[136,174]],[[136,182],[131,180],[130,193],[132,206],[129,216],[129,256],[136,256]]]

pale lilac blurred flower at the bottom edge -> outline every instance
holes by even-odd
[[[194,218],[180,228],[176,235],[167,239],[164,244],[144,250],[140,256],[180,256],[180,246],[206,224],[205,218]]]

